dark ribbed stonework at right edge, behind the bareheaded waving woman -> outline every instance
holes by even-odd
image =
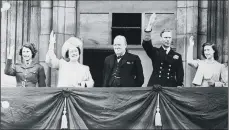
[[[208,1],[207,41],[217,45],[219,62],[228,59],[228,1]]]

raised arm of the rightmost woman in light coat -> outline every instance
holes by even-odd
[[[194,37],[191,36],[189,38],[189,46],[188,46],[188,51],[187,51],[187,63],[190,66],[197,68],[198,60],[193,60],[193,47],[194,47]]]

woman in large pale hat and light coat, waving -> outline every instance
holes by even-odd
[[[55,42],[52,31],[45,61],[51,68],[59,69],[57,87],[93,87],[94,80],[89,67],[79,63],[82,41],[76,37],[69,38],[62,46],[61,59],[54,53]]]

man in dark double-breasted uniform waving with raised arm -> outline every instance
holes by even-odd
[[[153,72],[148,86],[181,87],[183,86],[184,69],[182,57],[171,49],[172,32],[163,30],[160,33],[162,46],[153,47],[151,42],[152,24],[156,14],[152,14],[145,29],[145,37],[142,43],[146,54],[152,61]]]

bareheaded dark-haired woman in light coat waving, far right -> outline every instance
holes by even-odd
[[[218,51],[215,44],[204,43],[202,45],[202,55],[205,59],[193,60],[193,36],[190,37],[189,42],[187,63],[197,69],[192,83],[197,87],[222,87],[223,65],[216,61],[218,60]]]

